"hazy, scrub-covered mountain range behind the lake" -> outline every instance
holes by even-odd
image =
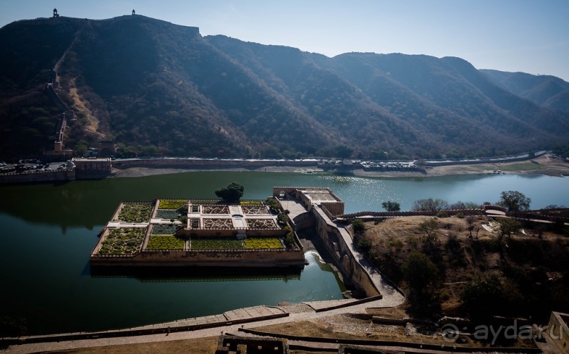
[[[202,37],[141,15],[0,29],[0,155],[101,140],[117,156],[436,158],[569,142],[569,83],[460,58],[345,53]]]

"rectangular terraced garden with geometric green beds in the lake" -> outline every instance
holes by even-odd
[[[91,254],[94,266],[302,267],[304,251],[269,200],[122,202]]]

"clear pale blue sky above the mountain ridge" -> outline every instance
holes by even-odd
[[[569,81],[569,0],[0,0],[0,26],[60,15],[137,14],[247,42],[336,56],[458,56],[478,69]]]

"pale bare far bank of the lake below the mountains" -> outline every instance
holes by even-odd
[[[184,172],[293,172],[293,173],[322,173],[326,172],[319,167],[305,166],[264,166],[257,168],[208,168],[208,167],[128,167],[113,168],[109,178],[147,177],[154,175],[171,175]],[[500,171],[500,172],[498,172]],[[332,172],[333,173],[333,172]],[[347,175],[355,177],[441,177],[451,175],[549,175],[564,177],[569,175],[569,163],[561,158],[551,158],[549,155],[540,156],[531,160],[523,160],[512,163],[481,163],[473,165],[445,165],[427,167],[426,172],[399,172],[399,171],[364,171],[352,170]]]

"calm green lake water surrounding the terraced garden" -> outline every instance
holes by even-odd
[[[244,198],[274,186],[330,187],[346,213],[381,210],[391,199],[408,210],[420,198],[495,202],[504,190],[532,198],[532,208],[569,205],[569,178],[479,175],[374,179],[327,174],[188,172],[130,179],[0,187],[0,316],[24,318],[29,334],[130,327],[212,315],[252,305],[341,298],[336,275],[315,262],[300,274],[91,274],[97,232],[120,201],[214,198],[229,182]],[[230,279],[227,279],[230,278]]]

